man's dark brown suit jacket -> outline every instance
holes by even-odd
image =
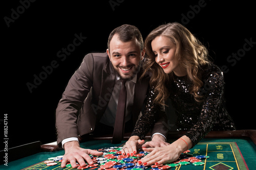
[[[92,53],[84,57],[80,67],[70,79],[56,109],[57,143],[68,137],[94,131],[96,123],[108,106],[114,89],[116,75],[106,53]],[[135,85],[134,125],[146,98],[150,76],[140,79],[138,72]],[[158,130],[156,130],[157,132]]]

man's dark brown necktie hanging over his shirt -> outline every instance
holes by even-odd
[[[120,143],[123,137],[124,131],[124,117],[126,110],[126,87],[124,80],[121,80],[122,86],[118,98],[117,111],[116,111],[116,120],[113,133],[112,143]]]

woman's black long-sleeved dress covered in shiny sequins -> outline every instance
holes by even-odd
[[[189,93],[192,82],[187,78],[172,74],[172,81],[166,85],[170,90],[169,99],[177,114],[176,126],[179,130],[187,130],[185,135],[193,142],[193,147],[211,130],[236,130],[233,120],[224,108],[224,78],[220,68],[210,64],[202,68],[201,80],[204,85],[198,92],[202,102],[196,102]],[[132,135],[143,138],[154,124],[159,106],[153,103],[156,96],[154,87],[148,91],[147,105]],[[168,113],[167,113],[168,114]]]

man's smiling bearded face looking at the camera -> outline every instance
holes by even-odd
[[[106,52],[121,79],[131,80],[135,77],[143,56],[143,52],[140,51],[140,43],[136,38],[122,42],[118,35],[114,35],[110,41],[110,49]]]

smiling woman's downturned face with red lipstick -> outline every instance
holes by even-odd
[[[185,76],[186,70],[179,66],[178,59],[175,57],[176,44],[165,36],[158,36],[152,42],[152,51],[155,54],[155,61],[166,74],[174,71],[176,76]]]

